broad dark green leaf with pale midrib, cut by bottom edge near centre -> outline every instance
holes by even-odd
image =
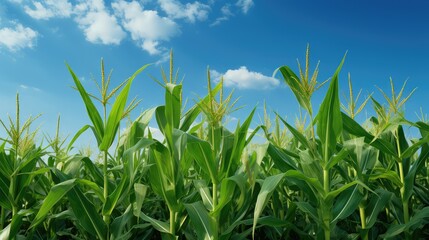
[[[198,239],[215,239],[217,236],[215,219],[212,218],[202,202],[185,204]]]

